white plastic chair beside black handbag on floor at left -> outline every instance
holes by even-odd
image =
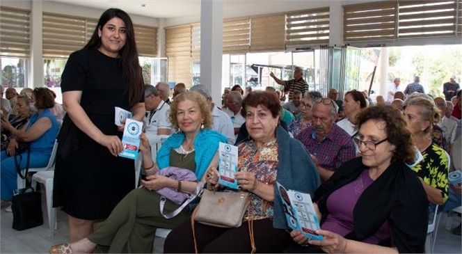
[[[53,179],[54,170],[40,171],[32,176],[31,184],[33,189],[36,189],[37,182],[40,182],[45,186],[45,194],[47,196],[49,237],[53,237],[54,230],[58,229],[58,221],[56,220],[56,208],[53,207]]]

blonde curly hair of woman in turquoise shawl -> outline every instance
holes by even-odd
[[[172,124],[174,129],[180,128],[180,125],[178,125],[177,121],[177,111],[178,111],[178,104],[180,102],[184,102],[186,100],[189,100],[191,102],[195,102],[198,104],[200,113],[202,114],[202,118],[204,118],[204,121],[202,124],[206,129],[212,129],[212,112],[210,111],[210,106],[207,104],[207,100],[205,100],[205,97],[202,96],[200,93],[193,92],[193,91],[188,91],[184,93],[180,93],[179,95],[175,96],[175,100],[173,100],[172,104],[170,104],[170,116],[168,118],[170,119],[170,123]]]

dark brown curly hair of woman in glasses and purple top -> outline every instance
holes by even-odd
[[[368,120],[380,120],[385,122],[385,132],[388,142],[395,145],[391,162],[404,161],[413,164],[415,161],[415,146],[412,133],[407,128],[406,120],[398,109],[392,106],[371,106],[363,109],[358,116],[358,129]]]

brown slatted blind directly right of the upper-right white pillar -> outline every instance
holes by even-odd
[[[396,1],[343,6],[344,42],[395,40],[396,12]]]

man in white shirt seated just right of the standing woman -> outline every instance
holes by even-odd
[[[170,105],[161,99],[159,91],[151,85],[145,85],[145,133],[151,143],[159,143],[170,135],[172,125],[168,120]]]

